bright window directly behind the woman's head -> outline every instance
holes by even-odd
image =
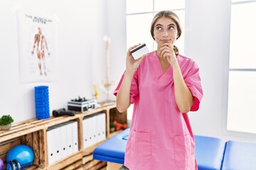
[[[174,11],[181,21],[181,29],[185,26],[185,0],[127,0],[127,49],[139,43],[146,43],[149,51],[156,50],[151,38],[151,21],[158,11]],[[176,41],[181,54],[184,53],[184,33]],[[127,111],[128,120],[132,119],[132,106]]]

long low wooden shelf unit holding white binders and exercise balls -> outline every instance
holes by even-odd
[[[27,120],[23,123],[15,124],[10,130],[0,130],[0,158],[4,160],[6,166],[6,154],[9,149],[16,145],[28,145],[34,153],[33,165],[28,169],[106,169],[106,162],[92,159],[92,151],[102,142],[97,142],[87,148],[83,148],[82,120],[85,116],[97,113],[105,113],[106,118],[106,139],[116,135],[120,131],[110,132],[110,121],[117,120],[119,123],[127,124],[127,112],[119,113],[115,103],[92,111],[76,113],[75,116],[63,115],[60,117],[50,117],[43,120]],[[47,130],[55,125],[76,121],[78,126],[78,152],[68,157],[60,159],[58,162],[48,164]]]

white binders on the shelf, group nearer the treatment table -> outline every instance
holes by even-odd
[[[106,114],[97,113],[85,116],[82,120],[83,147],[92,145],[106,139]]]

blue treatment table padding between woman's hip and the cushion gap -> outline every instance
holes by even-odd
[[[217,137],[194,136],[198,170],[221,169],[225,152],[225,141]]]

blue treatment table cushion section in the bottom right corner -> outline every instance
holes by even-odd
[[[256,169],[256,143],[228,141],[222,169]]]

